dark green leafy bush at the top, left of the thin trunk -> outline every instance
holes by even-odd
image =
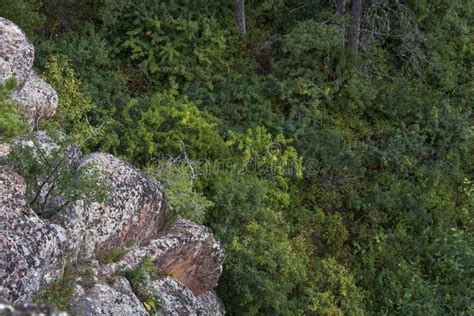
[[[109,3],[109,37],[126,63],[137,65],[138,88],[170,88],[175,83],[209,88],[225,81],[230,67],[228,47],[236,37],[209,15],[208,1]],[[150,90],[151,89],[151,90]]]

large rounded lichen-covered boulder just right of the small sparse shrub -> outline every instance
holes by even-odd
[[[81,162],[86,165],[105,175],[108,199],[89,207],[78,201],[55,219],[67,228],[72,253],[142,244],[158,234],[166,210],[158,183],[109,154],[91,154]]]

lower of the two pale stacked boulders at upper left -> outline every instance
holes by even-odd
[[[13,98],[25,108],[30,126],[38,126],[41,120],[53,116],[58,107],[58,94],[34,71],[24,86],[13,93]]]

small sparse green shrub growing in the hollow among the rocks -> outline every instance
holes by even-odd
[[[64,139],[56,141],[57,146],[47,149],[36,136],[25,137],[12,146],[7,160],[25,179],[26,198],[32,208],[47,218],[78,200],[88,207],[92,202],[103,201],[108,194],[105,175],[93,166],[77,168],[71,160],[73,145]]]

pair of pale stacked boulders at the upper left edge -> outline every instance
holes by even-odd
[[[33,70],[34,48],[18,26],[0,17],[0,82],[15,77],[13,98],[26,110],[30,126],[54,115],[56,91]]]

